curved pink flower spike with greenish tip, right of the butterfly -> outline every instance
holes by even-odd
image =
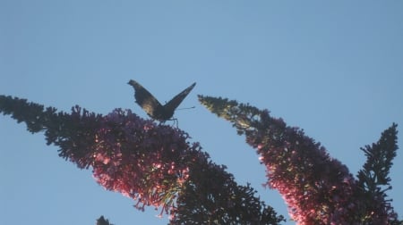
[[[388,224],[396,217],[388,213],[384,196],[366,192],[344,164],[302,129],[227,98],[199,96],[199,101],[231,121],[257,148],[267,169],[266,185],[279,190],[298,224]]]

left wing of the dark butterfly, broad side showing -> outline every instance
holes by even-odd
[[[133,79],[131,79],[128,84],[134,87],[136,103],[139,104],[152,119],[160,121],[161,118],[159,118],[159,115],[164,111],[164,107],[159,103],[159,100]]]

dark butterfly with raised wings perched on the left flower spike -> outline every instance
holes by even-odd
[[[147,112],[150,118],[157,121],[168,121],[174,116],[174,112],[179,104],[184,101],[184,98],[192,91],[196,83],[184,89],[181,93],[173,97],[167,104],[160,104],[159,100],[151,95],[151,93],[138,82],[131,79],[129,85],[134,87],[134,98],[136,103]]]

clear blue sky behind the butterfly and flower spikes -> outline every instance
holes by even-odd
[[[240,184],[265,189],[258,156],[197,102],[225,96],[268,108],[303,128],[353,174],[360,147],[399,123],[403,142],[402,1],[0,1],[0,94],[70,111],[107,113],[134,104],[135,79],[161,102],[197,86],[178,111],[179,127],[201,142]],[[46,146],[43,135],[0,116],[0,218],[4,224],[167,224],[136,211]],[[403,152],[390,197],[403,216]],[[294,224],[288,222],[287,224]]]

